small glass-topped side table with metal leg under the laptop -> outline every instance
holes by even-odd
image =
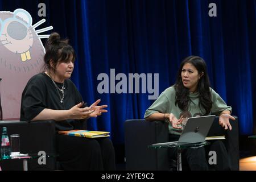
[[[176,148],[177,147],[177,171],[182,171],[182,163],[181,163],[181,150],[184,148],[200,148],[210,144],[207,141],[199,142],[199,143],[179,143],[174,144],[173,142],[159,143],[157,145],[150,144],[148,148]]]

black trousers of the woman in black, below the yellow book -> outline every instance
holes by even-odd
[[[109,138],[56,134],[56,140],[58,160],[64,170],[115,170],[115,152]]]

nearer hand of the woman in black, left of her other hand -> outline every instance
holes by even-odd
[[[84,102],[80,102],[79,104],[73,106],[69,109],[69,115],[71,119],[85,119],[89,116],[90,113],[93,113],[92,107],[84,107],[80,108],[84,105]]]

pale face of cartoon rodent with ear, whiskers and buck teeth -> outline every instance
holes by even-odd
[[[53,28],[47,27],[35,31],[35,28],[43,22],[45,22],[45,19],[32,26],[31,15],[23,9],[16,9],[10,18],[1,17],[0,40],[2,46],[13,53],[18,53],[22,61],[31,60],[30,49],[34,38],[48,38],[49,35],[38,36],[37,34]]]

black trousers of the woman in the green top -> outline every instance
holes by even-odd
[[[176,141],[179,139],[179,135],[169,135],[170,142]],[[209,164],[208,160],[209,151],[216,152],[216,163]],[[177,148],[169,149],[169,158],[170,160],[176,160]],[[191,171],[207,171],[211,170],[230,170],[230,161],[228,157],[228,152],[226,147],[221,140],[213,140],[210,142],[209,146],[200,147],[200,148],[185,148],[181,151],[181,161],[182,167],[184,170]]]

